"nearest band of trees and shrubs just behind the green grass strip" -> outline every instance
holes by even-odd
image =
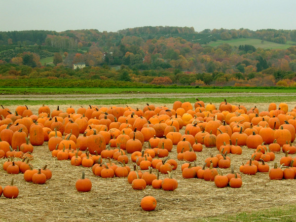
[[[58,66],[30,67],[28,65],[2,64],[0,65],[0,79],[2,86],[23,86],[28,81],[34,82],[36,86],[46,86],[47,81],[54,81],[57,87],[100,87],[108,86],[143,86],[146,85],[175,85],[175,86],[239,86],[239,87],[269,87],[284,86],[296,87],[296,73],[268,68],[261,72],[249,74],[233,73],[190,73],[178,69],[166,70],[132,70],[122,65],[119,70],[104,67],[85,67],[73,70],[71,68]],[[91,83],[94,81],[93,83]],[[23,82],[23,83],[22,83]],[[43,84],[41,84],[43,82]],[[60,82],[60,83],[59,83]],[[69,84],[65,84],[69,82]],[[112,83],[111,83],[112,82]],[[50,83],[49,85],[52,85]],[[57,85],[58,84],[58,85]],[[59,85],[60,84],[60,85]],[[30,85],[32,86],[32,85]],[[52,85],[53,86],[53,85]]]

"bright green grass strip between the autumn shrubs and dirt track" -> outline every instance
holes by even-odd
[[[28,94],[133,94],[133,93],[295,93],[296,89],[258,88],[25,88],[0,87],[2,95]]]

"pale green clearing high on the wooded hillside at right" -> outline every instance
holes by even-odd
[[[271,41],[264,41],[261,43],[261,39],[258,38],[235,38],[230,40],[218,40],[215,42],[210,42],[208,45],[217,47],[222,45],[223,43],[227,43],[232,46],[239,46],[239,45],[253,45],[255,48],[263,48],[263,49],[286,49],[292,46],[292,44],[296,42],[288,42],[286,44],[278,44]]]

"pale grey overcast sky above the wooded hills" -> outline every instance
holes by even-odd
[[[296,29],[296,0],[0,0],[0,31]]]

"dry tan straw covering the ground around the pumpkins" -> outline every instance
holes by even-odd
[[[167,105],[168,108],[172,108],[172,104],[154,105]],[[243,105],[247,109],[254,106],[254,104]],[[295,106],[293,103],[288,105],[289,110]],[[60,109],[65,111],[69,106],[62,105]],[[144,107],[139,104],[129,104],[129,106]],[[259,111],[267,110],[268,104],[257,105],[257,107]],[[14,111],[16,106],[8,108]],[[37,113],[39,106],[29,108]],[[78,106],[74,108],[76,110]],[[55,110],[56,107],[50,106],[50,109]],[[144,147],[148,147],[147,143]],[[217,148],[203,148],[202,152],[197,153],[198,165],[203,165],[204,160],[209,156],[209,150],[214,155],[218,154]],[[245,163],[253,152],[254,150],[244,147],[242,155],[228,155],[236,172],[239,171],[242,162]],[[128,165],[132,169],[130,154],[128,156]],[[169,156],[177,159],[176,146]],[[282,156],[284,153],[277,153],[274,161],[279,163]],[[295,157],[295,154],[292,157]],[[6,159],[1,159],[0,164],[4,161]],[[268,162],[268,165],[273,167],[274,161]],[[0,220],[192,221],[296,203],[295,180],[270,181],[268,173],[257,173],[254,176],[242,175],[241,188],[217,188],[214,182],[183,179],[181,165],[185,161],[177,162],[179,165],[173,177],[177,179],[179,185],[175,191],[157,190],[150,186],[139,191],[133,190],[126,178],[102,179],[96,177],[91,169],[71,166],[70,160],[56,160],[51,156],[45,142],[43,146],[35,147],[32,164],[36,169],[47,164],[47,168],[52,170],[52,179],[46,184],[27,183],[22,174],[8,175],[0,167],[0,185],[2,187],[9,185],[11,178],[14,178],[15,185],[19,188],[19,196],[16,199],[0,197],[2,211]],[[77,192],[75,189],[75,182],[80,179],[82,171],[85,171],[86,177],[92,182],[92,189],[87,193]],[[222,172],[230,173],[230,169],[223,169]],[[165,177],[167,175],[160,175],[161,179]],[[146,195],[154,196],[157,200],[157,207],[152,212],[145,212],[140,207],[140,201]]]

